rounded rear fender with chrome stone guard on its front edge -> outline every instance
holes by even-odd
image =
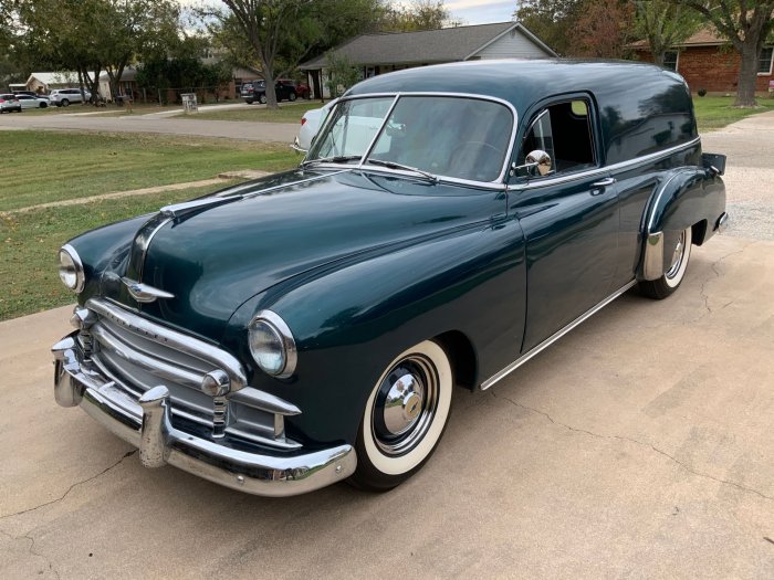
[[[725,211],[723,180],[704,168],[680,168],[667,172],[653,190],[642,215],[642,260],[639,280],[658,280],[667,271],[669,256],[681,231],[692,229],[692,243],[703,244],[718,229]]]

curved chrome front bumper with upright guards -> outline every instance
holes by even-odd
[[[80,405],[124,441],[139,447],[146,467],[167,463],[211,482],[263,496],[291,496],[352,475],[352,445],[301,455],[249,453],[194,436],[172,426],[169,391],[159,386],[135,401],[115,382],[84,365],[74,336],[54,345],[54,397],[62,407]]]

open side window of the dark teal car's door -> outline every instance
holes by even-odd
[[[556,103],[541,110],[524,137],[519,165],[524,165],[531,152],[541,150],[551,157],[552,167],[546,175],[595,167],[589,110],[590,105],[584,99]],[[536,173],[522,170],[520,175]]]

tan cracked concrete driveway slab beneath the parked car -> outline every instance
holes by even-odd
[[[669,299],[629,293],[458,391],[433,458],[383,495],[143,468],[53,401],[69,314],[0,324],[2,578],[774,578],[774,242],[714,238]]]

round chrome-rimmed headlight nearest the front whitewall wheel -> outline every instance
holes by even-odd
[[[261,310],[248,327],[250,352],[261,370],[286,379],[295,370],[295,340],[285,321],[271,310]]]

